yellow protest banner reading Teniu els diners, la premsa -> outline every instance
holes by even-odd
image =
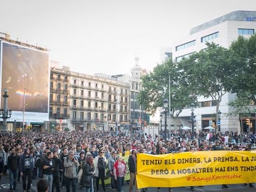
[[[137,154],[138,188],[254,182],[256,151]]]

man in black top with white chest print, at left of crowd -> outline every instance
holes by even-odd
[[[20,176],[22,177],[22,186],[23,191],[30,191],[30,186],[32,183],[32,171],[33,167],[33,157],[30,156],[30,149],[25,148],[23,150],[23,154],[20,157]],[[26,183],[26,178],[28,178],[28,182]]]

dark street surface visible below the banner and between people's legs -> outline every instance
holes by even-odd
[[[32,192],[36,191],[36,183],[38,182],[38,178],[36,180],[33,180],[33,186],[31,188]],[[256,185],[255,185],[256,186]],[[9,177],[2,177],[1,178],[1,185],[0,185],[0,191],[1,192],[7,192],[9,190]],[[112,191],[109,185],[106,185],[107,191]],[[22,192],[22,183],[17,184],[17,192]],[[56,191],[56,190],[55,190]],[[62,190],[61,192],[64,192],[66,190]],[[72,190],[71,190],[72,191]],[[79,187],[77,188],[77,191],[80,191]],[[100,188],[100,191],[102,189]],[[129,185],[125,183],[123,186],[123,191],[128,192],[129,191]],[[135,191],[135,190],[134,190]],[[156,192],[157,188],[148,188],[147,192]],[[179,187],[179,188],[173,188],[174,192],[184,192],[184,191],[190,191],[189,187]],[[221,185],[211,185],[211,186],[203,186],[203,187],[197,187],[195,186],[195,191],[232,191],[232,192],[238,192],[238,191],[255,191],[255,188],[250,188],[249,185],[229,185],[229,188],[222,189]],[[161,188],[161,192],[168,192],[168,188]]]

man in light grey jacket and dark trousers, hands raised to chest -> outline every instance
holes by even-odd
[[[70,150],[67,157],[64,158],[64,167],[65,167],[65,180],[67,192],[70,191],[70,183],[72,185],[72,192],[75,192],[76,183],[77,183],[77,169],[79,167],[79,161],[75,159],[75,152]]]

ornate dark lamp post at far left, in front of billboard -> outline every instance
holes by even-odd
[[[4,98],[4,108],[0,110],[0,118],[2,118],[2,127],[1,132],[7,132],[7,119],[11,117],[12,111],[7,109],[7,98],[9,95],[7,94],[8,90],[4,89],[4,94],[2,97]]]

